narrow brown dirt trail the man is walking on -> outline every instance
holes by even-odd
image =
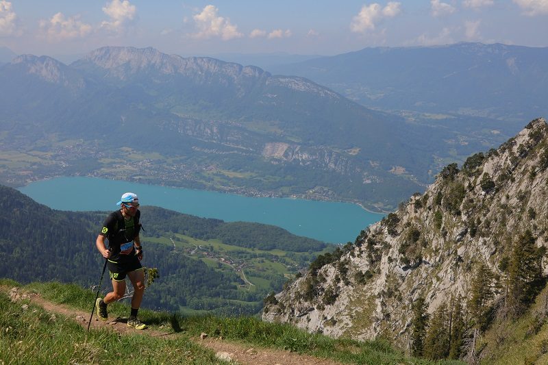
[[[40,305],[47,312],[63,314],[69,318],[74,318],[82,327],[88,327],[88,320],[90,318],[90,312],[82,312],[73,310],[72,308],[55,304],[51,301],[40,297],[40,294],[29,293],[21,290],[20,288],[7,288],[0,286],[0,290],[9,292],[12,301],[21,301],[28,299],[32,303]],[[103,328],[109,327],[113,331],[118,333],[134,333],[136,329],[127,326],[127,318],[109,318],[108,320],[97,319],[96,314],[93,314],[90,327]],[[145,336],[152,336],[158,338],[173,338],[177,334],[173,331],[158,331],[155,329],[145,329],[145,331],[138,331]],[[237,364],[252,364],[252,365],[338,365],[340,363],[333,360],[325,360],[309,355],[299,355],[298,353],[292,353],[290,351],[283,351],[277,349],[263,349],[253,347],[249,344],[242,344],[238,342],[229,342],[227,340],[221,340],[217,338],[206,337],[204,339],[191,338],[192,341],[200,344],[203,347],[212,349],[216,356],[223,360],[229,360]]]

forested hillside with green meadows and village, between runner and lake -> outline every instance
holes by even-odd
[[[51,210],[5,186],[0,209],[0,277],[97,284],[103,259],[95,238],[108,212]],[[269,225],[224,223],[160,207],[141,211],[142,263],[160,273],[145,295],[147,307],[256,313],[286,276],[330,247]]]

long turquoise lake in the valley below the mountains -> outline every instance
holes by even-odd
[[[225,222],[277,225],[298,236],[332,243],[353,242],[362,229],[384,216],[351,203],[253,198],[93,177],[57,177],[35,181],[19,190],[53,209],[73,211],[116,210],[121,195],[134,192],[141,205],[156,205]],[[145,227],[146,219],[146,216],[142,217]]]

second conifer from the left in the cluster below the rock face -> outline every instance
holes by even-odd
[[[447,304],[441,304],[432,314],[424,340],[423,356],[432,360],[444,359],[449,355],[449,312]]]

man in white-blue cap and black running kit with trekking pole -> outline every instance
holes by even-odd
[[[120,210],[109,214],[95,241],[101,255],[108,260],[108,270],[112,280],[112,292],[106,294],[104,299],[98,298],[95,303],[97,316],[107,320],[107,304],[124,296],[127,275],[134,288],[132,312],[129,314],[127,325],[136,329],[145,329],[147,325],[137,319],[142,296],[145,294],[145,273],[140,263],[142,247],[139,239],[141,215],[138,210],[139,199],[133,192],[126,192],[116,205],[120,205]],[[105,238],[108,238],[108,249],[105,247]]]

